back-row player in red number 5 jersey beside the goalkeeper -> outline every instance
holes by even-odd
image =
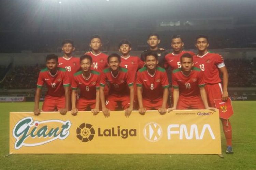
[[[171,47],[173,51],[165,56],[165,61],[167,62],[171,70],[181,68],[181,56],[183,54],[189,53],[192,56],[195,55],[192,51],[183,51],[184,42],[180,35],[172,36]]]

